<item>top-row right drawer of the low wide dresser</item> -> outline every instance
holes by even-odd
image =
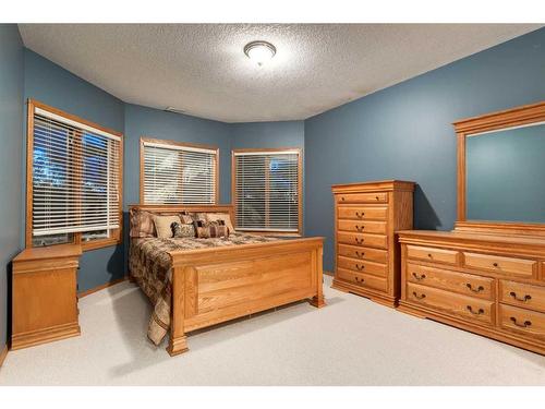
[[[463,253],[463,264],[470,268],[481,268],[494,273],[514,274],[521,277],[533,277],[537,262],[526,258],[501,257],[499,255]]]

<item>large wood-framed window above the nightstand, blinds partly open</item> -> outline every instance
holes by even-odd
[[[119,242],[121,134],[31,100],[27,136],[27,246]]]

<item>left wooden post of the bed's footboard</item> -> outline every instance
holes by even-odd
[[[185,272],[183,267],[172,268],[172,303],[170,308],[170,341],[167,352],[173,357],[189,351],[184,332]]]

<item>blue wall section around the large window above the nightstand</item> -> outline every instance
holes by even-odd
[[[124,131],[123,101],[28,49],[25,49],[24,97],[25,100],[34,98],[102,127]],[[25,172],[24,154],[22,158]],[[22,236],[24,225],[23,219]],[[121,278],[125,274],[123,244],[85,252],[80,265],[77,281],[82,291]]]

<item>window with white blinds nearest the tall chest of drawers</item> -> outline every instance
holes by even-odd
[[[301,151],[233,151],[232,158],[237,227],[301,233]]]

